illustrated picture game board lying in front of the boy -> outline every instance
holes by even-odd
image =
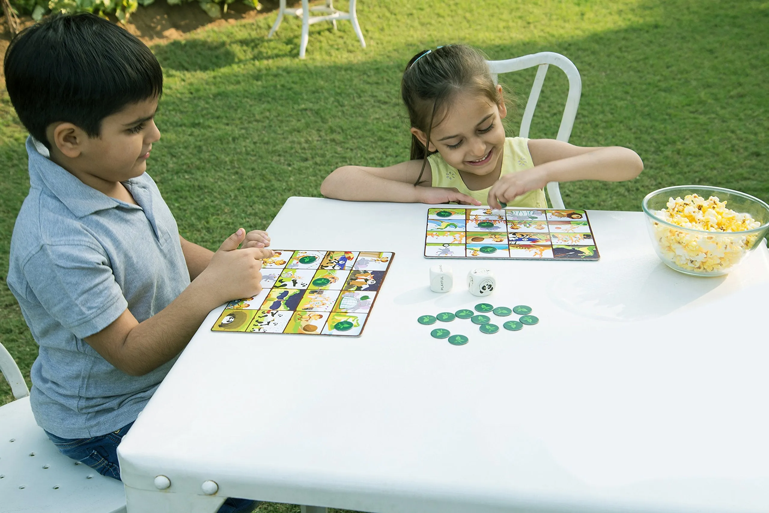
[[[227,303],[211,331],[358,336],[394,253],[275,250],[258,296]]]

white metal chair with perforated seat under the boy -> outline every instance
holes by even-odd
[[[58,452],[35,423],[22,372],[2,344],[0,370],[16,399],[0,406],[0,513],[125,513],[122,483]]]

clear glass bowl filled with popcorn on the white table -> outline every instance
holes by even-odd
[[[680,227],[657,217],[655,212],[667,207],[670,198],[697,194],[707,200],[711,196],[726,202],[726,207],[748,213],[760,227],[739,232],[711,232]],[[721,187],[681,185],[655,190],[644,197],[649,237],[654,251],[667,266],[693,276],[721,276],[756,249],[769,230],[769,205],[750,194]]]

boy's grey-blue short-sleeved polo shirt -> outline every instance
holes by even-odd
[[[32,411],[62,438],[104,435],[136,419],[175,359],[128,376],[83,339],[126,308],[141,323],[185,290],[178,229],[148,174],[124,182],[136,206],[83,184],[32,137],[27,152],[30,188],[13,230],[8,286],[40,346]]]

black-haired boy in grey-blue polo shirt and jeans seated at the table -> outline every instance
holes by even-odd
[[[32,411],[62,453],[119,479],[118,443],[197,326],[259,292],[269,237],[240,228],[213,253],[178,234],[145,173],[162,71],[127,31],[54,17],[11,42],[4,68],[30,133],[8,286],[40,346]]]

